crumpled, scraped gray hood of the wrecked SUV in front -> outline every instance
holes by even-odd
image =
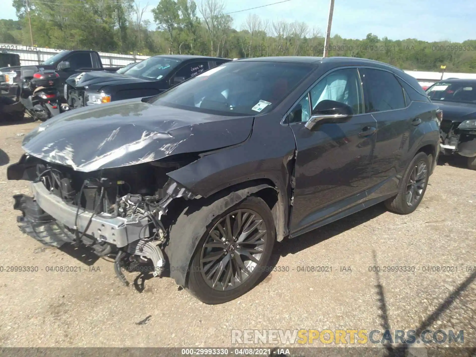
[[[225,117],[127,99],[75,109],[31,131],[22,148],[90,172],[220,149],[245,141],[253,117]]]

